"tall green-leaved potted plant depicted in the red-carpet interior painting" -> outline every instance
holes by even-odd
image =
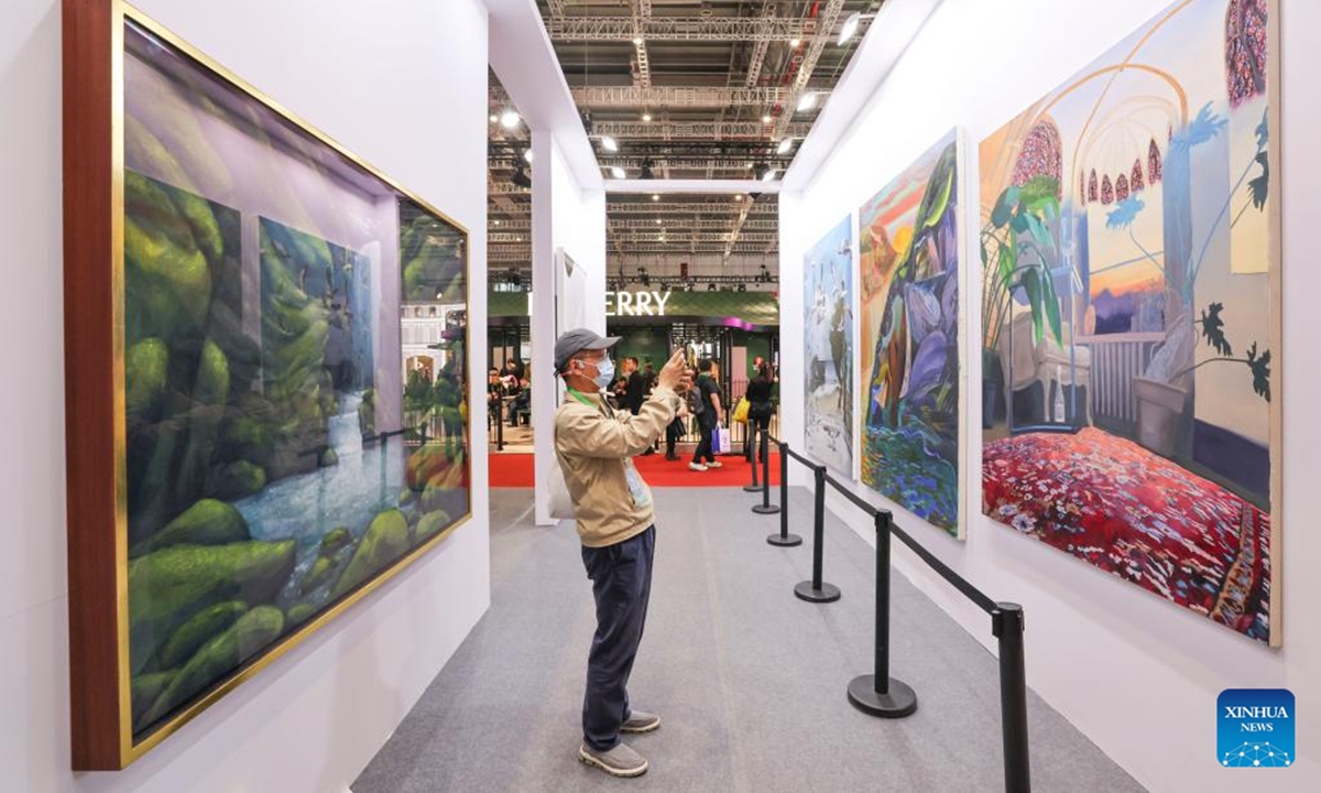
[[[1050,268],[1059,259],[1055,239],[1059,181],[1038,176],[1011,185],[996,200],[991,222],[982,229],[982,427],[995,426],[1008,411],[1011,383],[1000,359],[1000,332],[1013,303],[1032,312],[1033,344],[1049,329],[1063,345],[1059,299]]]

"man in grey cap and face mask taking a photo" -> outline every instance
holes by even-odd
[[[577,756],[612,776],[635,777],[646,773],[647,761],[620,735],[651,732],[660,718],[633,708],[627,691],[651,596],[657,537],[651,490],[631,457],[674,419],[691,373],[675,353],[637,415],[614,411],[601,391],[614,378],[609,349],[618,341],[576,329],[555,342],[555,371],[568,389],[555,412],[555,453],[596,600]]]

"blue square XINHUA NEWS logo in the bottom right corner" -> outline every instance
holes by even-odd
[[[1215,700],[1217,749],[1227,768],[1293,765],[1293,694],[1287,689],[1226,689]]]

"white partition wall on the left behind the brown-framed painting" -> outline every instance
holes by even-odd
[[[469,369],[486,350],[487,15],[480,0],[139,0],[137,7],[470,233]],[[472,518],[128,769],[69,748],[61,322],[61,3],[0,25],[0,229],[8,241],[0,476],[0,789],[346,790],[486,611],[486,445]],[[18,386],[17,383],[22,383]],[[469,383],[482,403],[482,378]]]

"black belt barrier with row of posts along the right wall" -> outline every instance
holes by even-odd
[[[750,426],[750,424],[749,424]],[[798,460],[812,471],[814,514],[812,514],[812,579],[794,587],[794,595],[810,603],[832,603],[839,600],[839,587],[822,580],[822,556],[826,525],[826,488],[830,482],[844,498],[863,510],[876,523],[876,653],[873,673],[853,678],[848,685],[848,700],[857,710],[889,719],[911,715],[917,710],[917,694],[902,681],[889,674],[890,640],[890,537],[898,537],[918,559],[926,563],[941,578],[950,583],[964,597],[991,616],[991,633],[1000,645],[1000,726],[1004,739],[1004,789],[1009,793],[1029,793],[1032,790],[1032,767],[1028,752],[1028,683],[1024,670],[1022,607],[1017,603],[992,600],[966,578],[950,570],[931,551],[894,525],[894,515],[888,509],[868,504],[852,489],[830,476],[826,467],[789,448],[789,444],[762,434],[762,504],[753,511],[770,514],[770,474],[766,443],[779,447],[779,534],[771,534],[766,542],[774,546],[802,545],[802,538],[789,534],[789,459]],[[756,463],[754,463],[756,465]],[[756,476],[756,474],[754,474]],[[756,478],[753,478],[756,484]],[[750,489],[749,489],[750,492]]]

